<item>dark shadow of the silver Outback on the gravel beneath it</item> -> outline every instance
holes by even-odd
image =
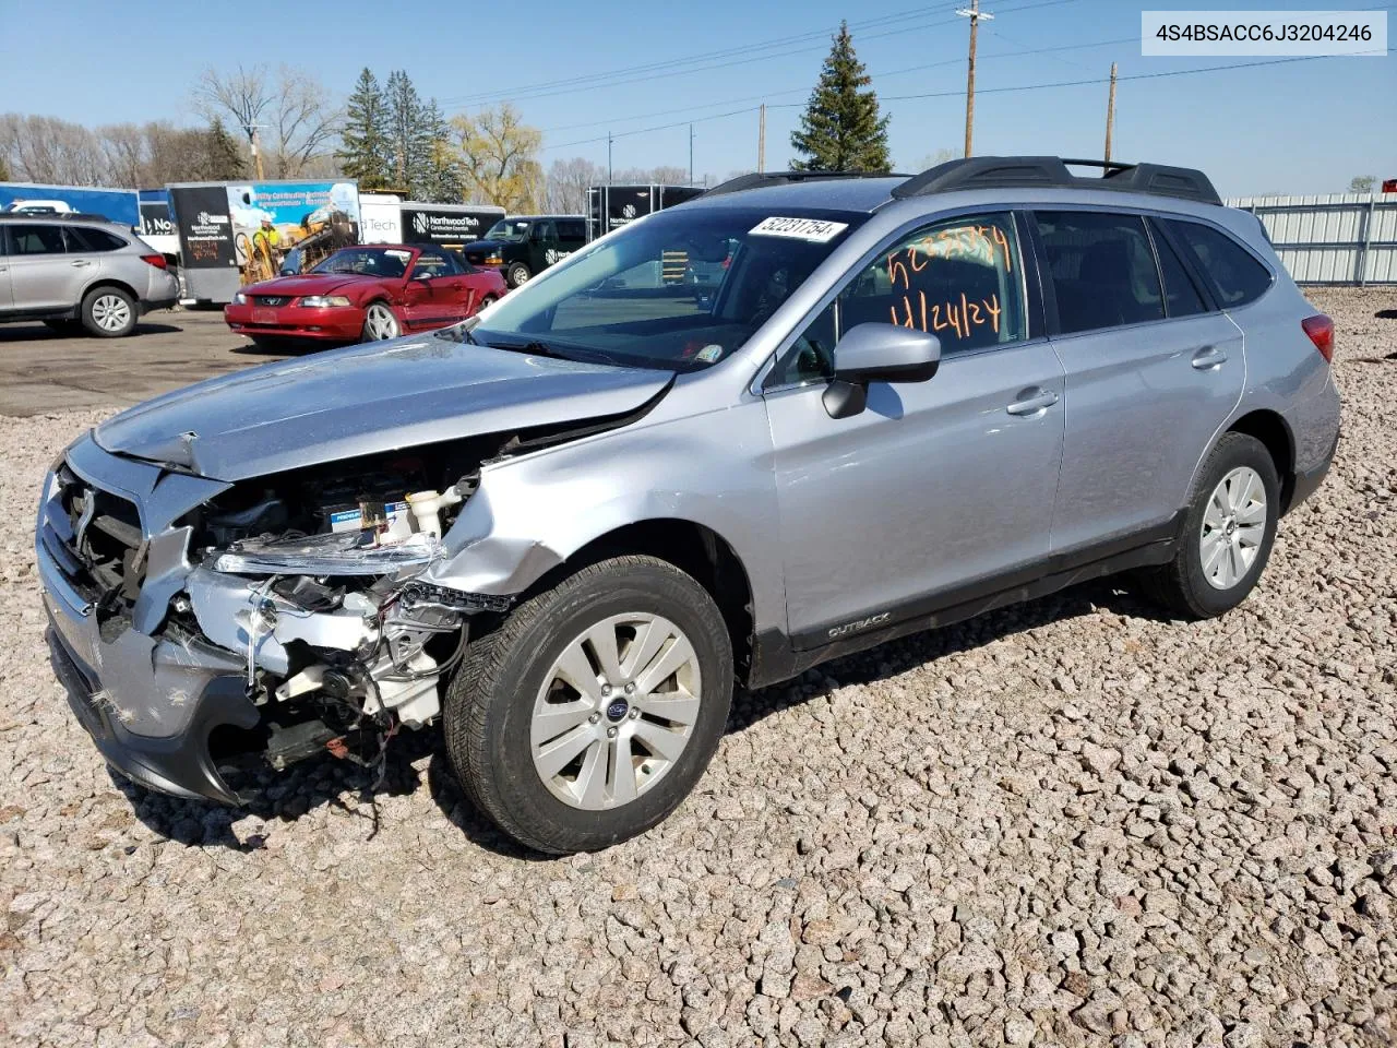
[[[1155,605],[1123,590],[1120,580],[1083,583],[1037,601],[847,655],[809,669],[795,681],[756,692],[738,689],[725,731],[747,731],[775,713],[827,696],[837,687],[897,676],[914,667],[1053,622],[1091,615],[1101,608],[1116,615],[1168,620]],[[426,774],[420,770],[423,764]],[[256,851],[265,845],[267,834],[254,830],[239,837],[235,823],[247,816],[268,824],[293,823],[317,808],[338,808],[352,813],[362,822],[365,840],[372,840],[384,817],[379,802],[386,796],[415,794],[425,785],[441,813],[472,844],[509,858],[542,862],[552,859],[520,847],[476,810],[457,783],[440,731],[404,732],[397,736],[388,748],[381,783],[379,777],[377,769],[326,755],[293,764],[282,773],[231,774],[229,785],[249,796],[250,802],[244,808],[226,808],[155,794],[112,773],[112,781],[126,794],[137,819],[159,836],[190,847]]]

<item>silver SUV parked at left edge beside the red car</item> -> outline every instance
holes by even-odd
[[[99,215],[0,215],[0,324],[42,320],[60,334],[129,335],[179,299],[165,256]]]

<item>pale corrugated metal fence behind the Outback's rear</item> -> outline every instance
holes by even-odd
[[[1229,197],[1261,219],[1298,284],[1397,284],[1397,194]]]

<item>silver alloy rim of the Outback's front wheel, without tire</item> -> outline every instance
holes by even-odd
[[[566,805],[604,810],[652,789],[698,720],[703,679],[689,637],[659,615],[613,615],[553,661],[529,722],[534,770]]]

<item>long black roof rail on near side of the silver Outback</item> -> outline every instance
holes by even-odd
[[[1101,177],[1083,177],[1067,165],[1101,168]],[[958,189],[1112,189],[1158,197],[1221,204],[1222,197],[1208,176],[1193,168],[1162,163],[1116,163],[1076,161],[1062,157],[970,157],[947,161],[908,179],[893,190],[894,197],[921,197]]]

